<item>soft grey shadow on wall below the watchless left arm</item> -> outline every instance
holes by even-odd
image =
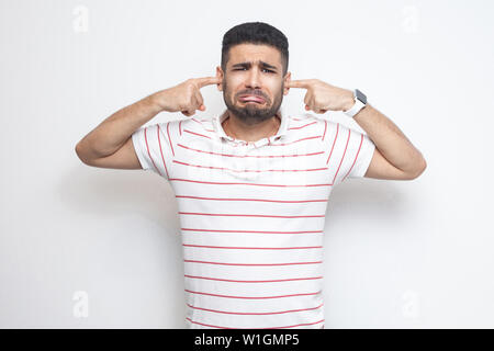
[[[179,234],[175,192],[168,181],[143,170],[77,167],[59,184],[61,202],[78,213],[120,217],[137,215],[167,233]]]

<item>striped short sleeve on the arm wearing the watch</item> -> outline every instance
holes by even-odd
[[[375,144],[364,133],[355,131],[341,123],[326,121],[325,148],[333,184],[347,178],[362,178],[374,155]]]

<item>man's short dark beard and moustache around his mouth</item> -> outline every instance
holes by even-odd
[[[267,121],[277,114],[278,110],[283,102],[283,86],[281,83],[281,89],[278,94],[274,97],[274,101],[271,103],[270,99],[266,97],[263,93],[258,92],[257,94],[254,91],[242,91],[235,98],[232,97],[232,93],[228,90],[226,84],[226,79],[223,80],[224,94],[223,100],[225,101],[228,111],[233,113],[236,117],[238,117],[242,122],[247,125],[255,125],[260,122]],[[265,99],[263,104],[258,103],[242,103],[238,100],[239,95],[244,94],[255,94],[260,95]]]

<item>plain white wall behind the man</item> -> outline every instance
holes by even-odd
[[[75,146],[121,107],[214,76],[224,33],[252,21],[288,36],[292,79],[359,88],[428,163],[333,191],[326,328],[494,327],[493,16],[487,0],[1,0],[0,327],[184,327],[170,184],[86,166]],[[215,86],[201,93],[197,116],[224,110]],[[304,94],[284,111],[305,113]]]

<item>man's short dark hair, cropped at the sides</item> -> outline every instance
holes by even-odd
[[[281,53],[283,76],[287,75],[289,63],[287,36],[272,25],[263,22],[247,22],[238,24],[225,33],[222,44],[223,71],[226,70],[226,63],[229,59],[229,48],[244,43],[265,44],[278,48]]]

